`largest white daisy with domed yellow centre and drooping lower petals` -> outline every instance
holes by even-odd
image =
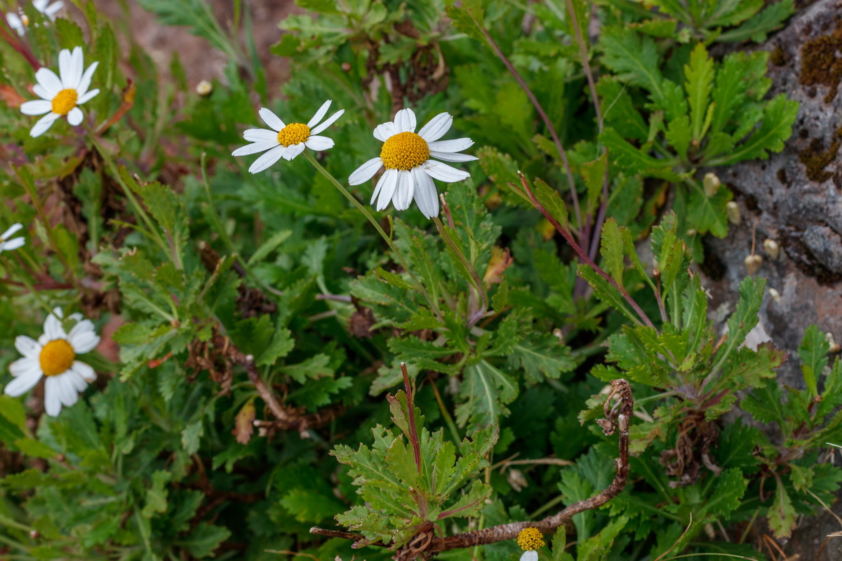
[[[380,156],[358,167],[348,178],[349,185],[365,183],[381,167],[385,167],[386,172],[377,182],[370,204],[376,200],[377,210],[382,210],[392,201],[395,209],[406,210],[414,198],[424,216],[438,216],[439,196],[433,179],[454,183],[471,177],[471,174],[431,158],[456,162],[477,159],[476,156],[459,153],[470,148],[473,140],[439,140],[450,130],[452,123],[453,117],[449,113],[440,113],[416,134],[413,110],[401,109],[395,114],[394,121],[377,125],[374,137],[383,143]]]

